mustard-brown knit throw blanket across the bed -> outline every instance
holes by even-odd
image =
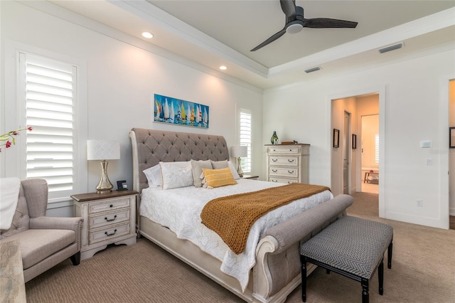
[[[209,201],[200,213],[200,218],[205,226],[218,233],[238,255],[245,250],[250,228],[258,218],[279,206],[326,190],[330,188],[293,183],[250,193],[237,193]]]

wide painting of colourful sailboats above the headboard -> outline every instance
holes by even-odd
[[[154,94],[154,122],[208,128],[208,105]]]

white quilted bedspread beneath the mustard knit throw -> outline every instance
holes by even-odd
[[[270,211],[252,225],[244,252],[236,255],[218,234],[200,222],[200,212],[205,203],[220,196],[284,185],[247,179],[239,179],[237,182],[237,185],[213,189],[194,186],[168,190],[145,188],[141,193],[139,213],[141,216],[169,228],[176,233],[178,238],[190,240],[201,250],[218,258],[222,262],[221,271],[239,280],[242,290],[245,291],[250,278],[250,270],[256,262],[256,247],[262,233],[302,211],[330,200],[333,195],[331,191],[323,191]]]

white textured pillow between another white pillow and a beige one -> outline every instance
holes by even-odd
[[[194,184],[191,161],[187,161],[183,166],[176,165],[176,163],[159,162],[161,178],[163,179],[163,189],[186,187]]]

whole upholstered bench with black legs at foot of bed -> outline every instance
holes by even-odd
[[[368,303],[368,285],[378,269],[379,294],[383,293],[384,252],[392,267],[393,228],[363,218],[344,216],[300,246],[301,297],[306,302],[306,262],[349,277],[362,284],[362,302]]]

